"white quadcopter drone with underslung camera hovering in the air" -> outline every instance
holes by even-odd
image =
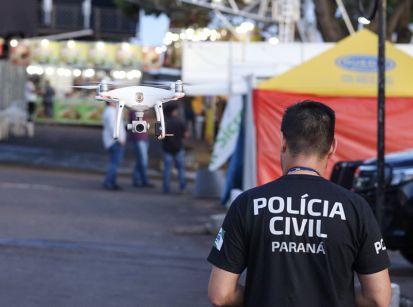
[[[164,84],[162,86],[162,84]],[[144,112],[150,108],[155,109],[156,124],[155,135],[159,140],[166,134],[165,118],[162,104],[168,101],[178,100],[185,96],[184,84],[181,80],[176,82],[155,83],[155,86],[127,86],[109,90],[110,82],[102,80],[97,85],[74,86],[83,89],[96,89],[96,99],[117,104],[116,126],[113,138],[119,137],[122,111],[125,107],[135,111],[136,120],[127,125],[133,133],[145,133],[149,129],[149,123],[143,119]]]

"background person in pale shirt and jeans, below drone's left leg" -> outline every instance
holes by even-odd
[[[103,145],[109,154],[109,165],[106,171],[105,180],[103,182],[103,188],[107,190],[120,190],[120,186],[117,184],[117,174],[119,166],[123,159],[124,145],[126,142],[125,124],[121,122],[119,130],[119,138],[115,140],[113,138],[113,132],[116,126],[116,105],[111,102],[106,103],[105,111],[103,112]]]

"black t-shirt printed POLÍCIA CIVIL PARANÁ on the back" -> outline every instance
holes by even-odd
[[[242,193],[208,257],[240,274],[245,306],[355,306],[353,271],[389,267],[367,202],[322,177],[287,175]]]

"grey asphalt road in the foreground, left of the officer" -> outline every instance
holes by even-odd
[[[209,306],[202,225],[217,202],[101,181],[0,165],[0,306]],[[413,299],[413,265],[390,254]]]

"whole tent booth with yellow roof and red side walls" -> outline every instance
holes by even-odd
[[[338,161],[376,155],[377,39],[362,30],[254,90],[258,185],[281,175],[282,115],[288,106],[305,99],[326,103],[336,112],[338,150],[326,176]],[[413,58],[386,43],[386,153],[413,148],[412,119]]]

